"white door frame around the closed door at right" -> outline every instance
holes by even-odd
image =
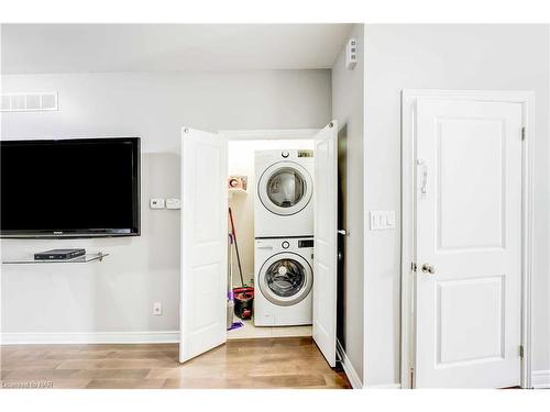
[[[532,271],[532,143],[534,100],[531,91],[417,90],[402,91],[402,388],[414,388],[415,368],[415,271],[416,263],[416,124],[419,98],[452,98],[470,101],[519,103],[525,140],[521,153],[521,388],[531,387],[531,271]]]

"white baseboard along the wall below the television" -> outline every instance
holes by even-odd
[[[40,333],[7,332],[0,335],[0,343],[2,345],[144,344],[177,342],[179,342],[179,331]]]

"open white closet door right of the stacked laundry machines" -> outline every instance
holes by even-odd
[[[314,341],[331,367],[337,358],[338,123],[315,137]]]

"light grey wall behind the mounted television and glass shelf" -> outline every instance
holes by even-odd
[[[59,92],[57,112],[3,113],[4,140],[141,136],[143,152],[142,236],[2,241],[4,258],[64,246],[111,254],[88,265],[4,265],[1,325],[12,333],[178,330],[179,212],[147,203],[179,196],[180,127],[310,129],[331,113],[330,70],[14,75],[2,82],[4,92]],[[161,316],[151,314],[157,301]]]

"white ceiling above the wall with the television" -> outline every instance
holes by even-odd
[[[2,24],[3,74],[330,68],[351,24]]]

